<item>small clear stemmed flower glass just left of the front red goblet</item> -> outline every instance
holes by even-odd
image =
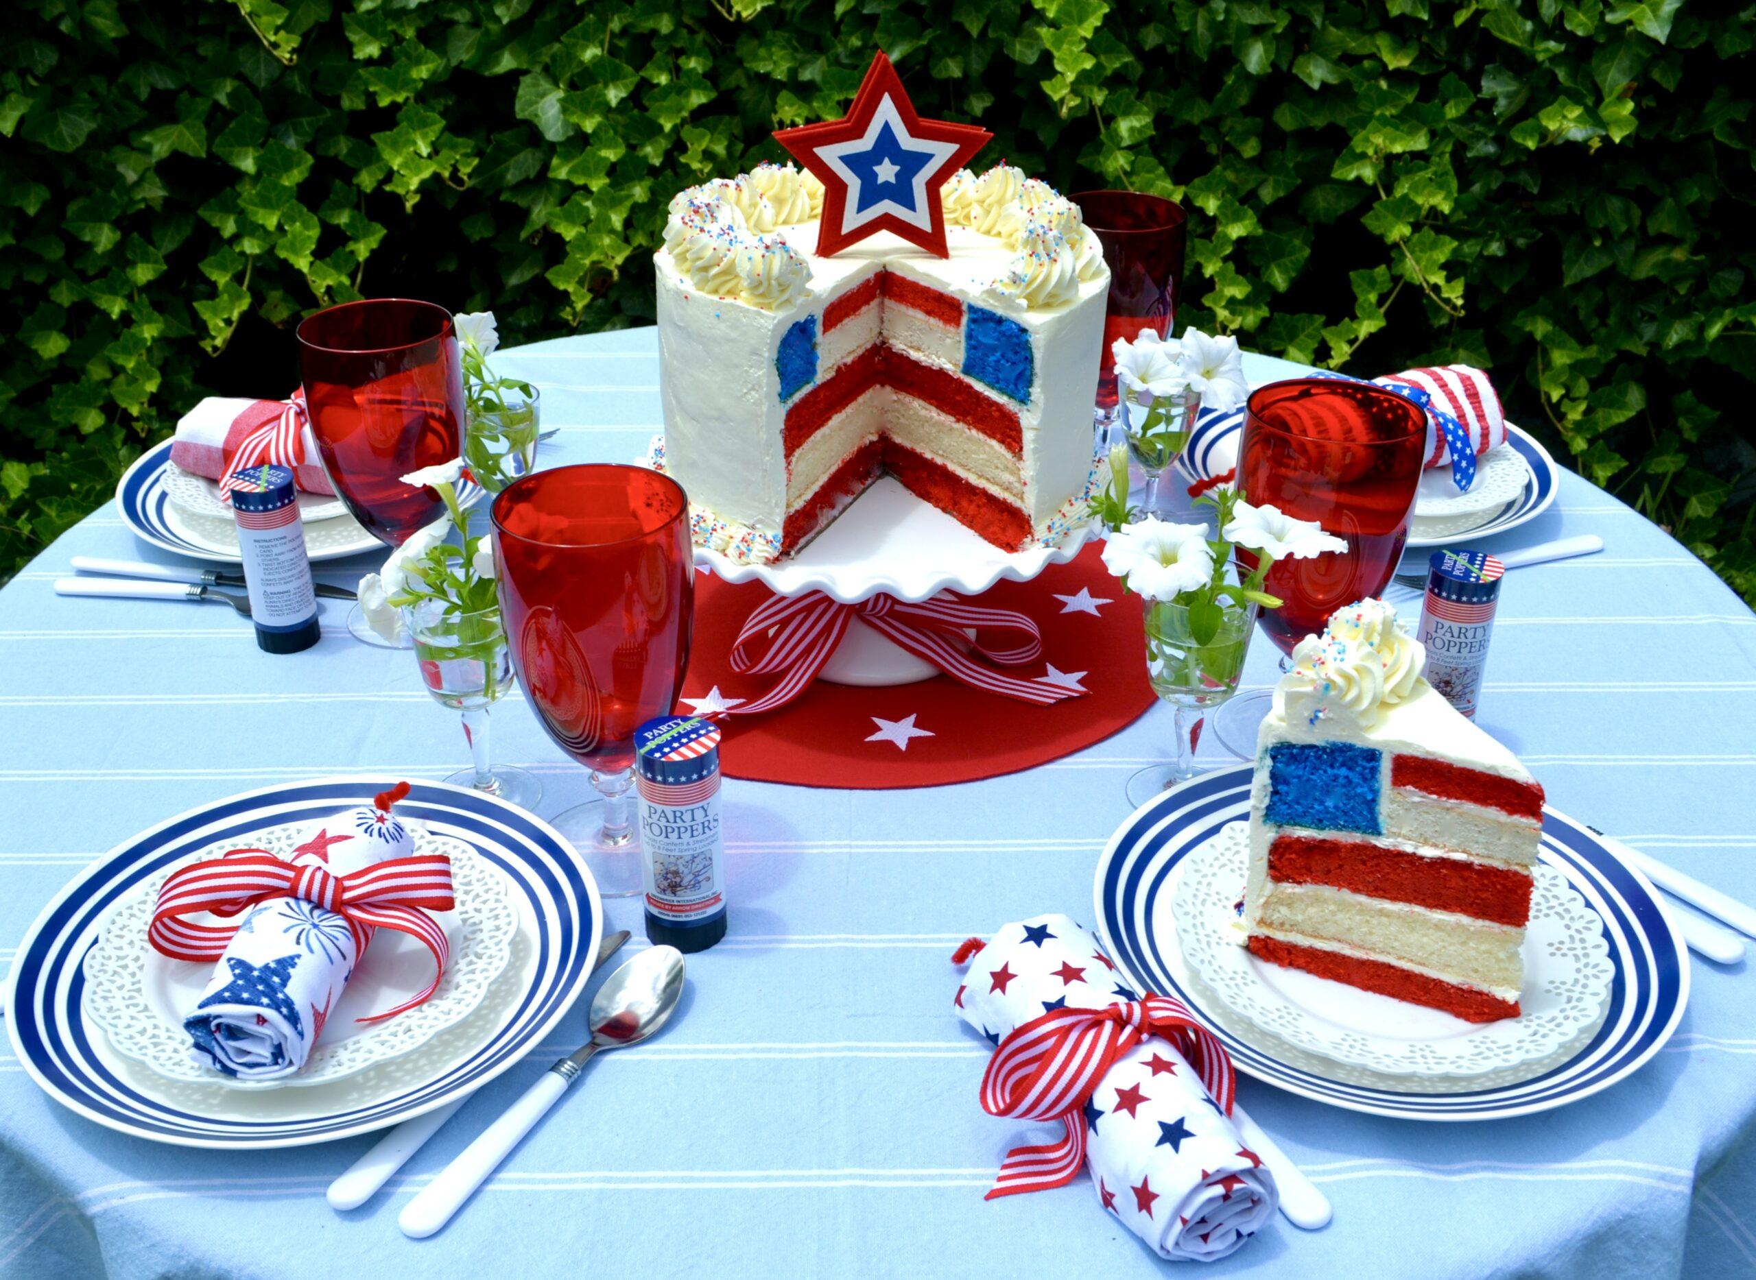
[[[421,683],[441,706],[464,715],[464,741],[471,767],[444,781],[499,795],[522,809],[536,809],[543,783],[509,764],[495,766],[488,750],[488,709],[513,687],[500,609],[462,611],[451,600],[409,606],[409,639],[421,664]]]

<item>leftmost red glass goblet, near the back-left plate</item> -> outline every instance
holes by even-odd
[[[464,451],[464,365],[451,313],[411,298],[327,307],[299,325],[299,367],[318,457],[353,518],[386,546],[439,520],[439,493],[402,476]],[[358,608],[348,630],[385,643]]]

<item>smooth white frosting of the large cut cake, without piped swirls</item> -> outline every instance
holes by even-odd
[[[806,255],[811,269],[810,291],[783,311],[704,295],[678,272],[669,251],[653,256],[666,467],[690,502],[780,537],[788,506],[785,406],[774,365],[780,341],[795,321],[822,316],[831,298],[887,269],[1006,316],[1029,334],[1031,397],[1013,407],[1024,435],[1026,509],[1036,532],[1045,534],[1059,507],[1083,492],[1090,474],[1090,413],[1108,274],[1083,281],[1068,306],[1026,311],[985,295],[987,286],[1010,270],[1015,255],[999,239],[968,227],[946,230],[950,258],[934,258],[887,232],[834,258],[818,258],[817,223],[783,227],[780,234]],[[906,307],[897,311],[908,313]],[[818,383],[832,363],[869,342],[869,334],[838,339],[843,328],[846,323],[827,335],[818,334]],[[939,328],[952,335],[950,328]],[[961,344],[961,334],[957,341]],[[938,337],[922,334],[910,346],[932,353],[936,342]],[[825,360],[825,351],[834,360]]]

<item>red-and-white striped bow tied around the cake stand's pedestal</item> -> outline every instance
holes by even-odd
[[[732,644],[732,671],[745,676],[778,674],[781,680],[762,697],[718,715],[748,716],[792,702],[817,680],[824,664],[841,644],[853,618],[971,688],[1040,706],[1059,702],[1064,697],[1078,697],[1078,690],[1008,676],[971,657],[971,653],[980,653],[1003,667],[1022,667],[1040,658],[1043,636],[1036,623],[1022,613],[983,609],[962,602],[950,592],[920,604],[910,604],[894,595],[874,595],[859,604],[841,604],[824,592],[806,592],[804,595],[776,595],[745,622],[743,630],[738,632],[738,643]],[[964,636],[966,629],[975,629],[978,639],[969,641]],[[980,639],[983,630],[1013,632],[1020,643],[1010,648],[983,644]]]

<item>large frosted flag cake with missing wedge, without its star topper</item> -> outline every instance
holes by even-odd
[[[697,543],[790,555],[885,472],[1008,551],[1083,509],[1098,241],[1010,165],[959,170],[943,198],[948,258],[889,232],[817,256],[822,188],[792,165],[673,200],[655,460]]]

